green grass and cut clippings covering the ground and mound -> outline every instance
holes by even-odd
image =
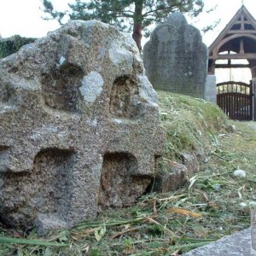
[[[109,209],[72,230],[38,238],[35,230],[2,229],[0,255],[172,255],[250,225],[249,203],[256,201],[255,131],[228,120],[214,104],[158,93],[167,134],[162,161],[178,161],[183,151],[201,154],[200,171],[177,191],[143,195],[132,207]],[[247,176],[233,177],[238,168]]]

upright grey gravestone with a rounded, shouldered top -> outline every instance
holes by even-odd
[[[143,62],[154,89],[204,98],[207,46],[182,14],[170,15],[154,29],[144,46]]]

